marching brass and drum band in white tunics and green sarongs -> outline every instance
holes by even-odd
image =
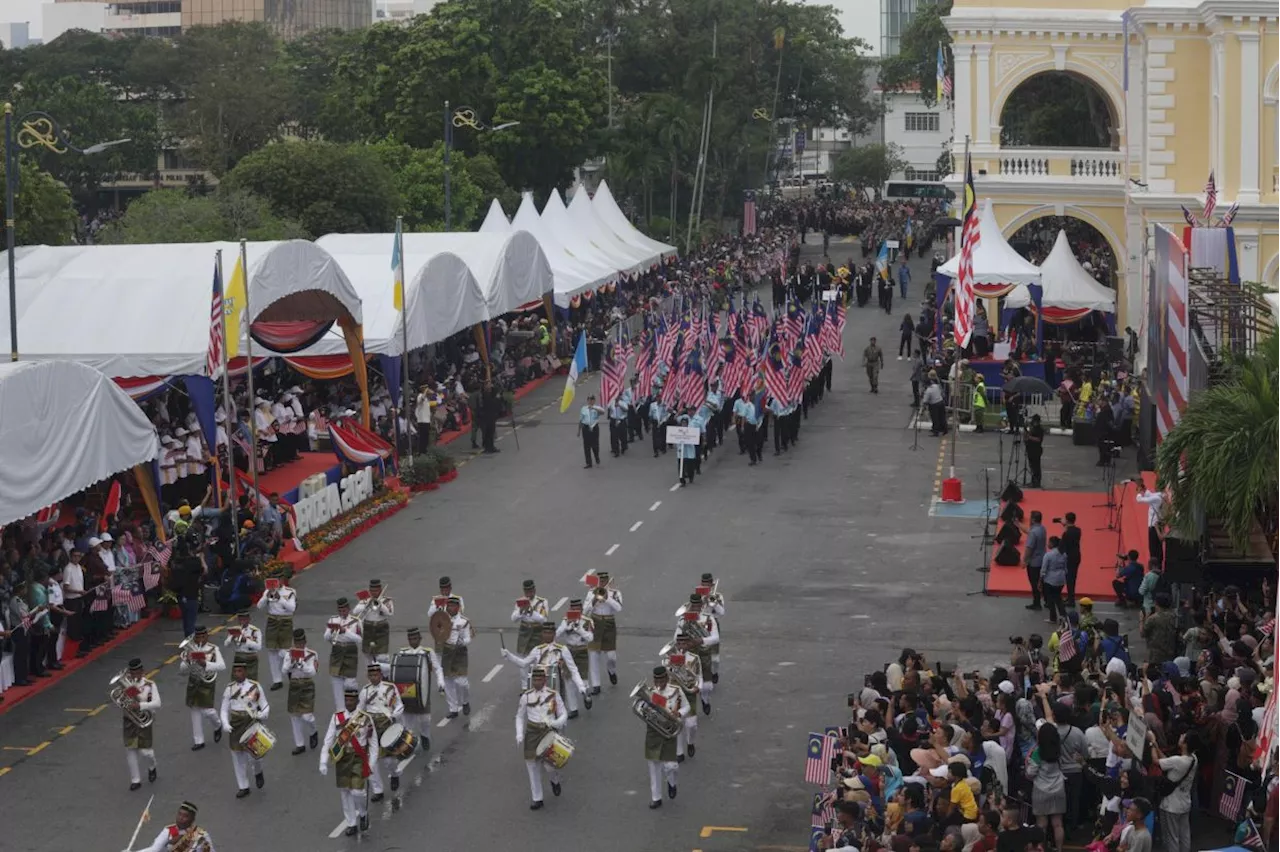
[[[521,693],[516,706],[516,745],[522,750],[529,777],[530,809],[544,805],[543,774],[553,796],[561,796],[563,771],[575,756],[575,743],[564,736],[570,720],[580,709],[593,707],[593,695],[600,693],[603,669],[611,684],[617,684],[617,615],[622,611],[622,592],[604,571],[588,572],[581,582],[585,592],[568,601],[564,615],[556,620],[545,597],[526,580],[512,611],[517,624],[516,651],[502,655],[521,670]],[[453,594],[452,581],[440,578],[440,595],[433,599],[429,627],[434,647],[422,645],[422,632],[407,629],[408,643],[389,654],[390,615],[394,605],[383,595],[379,581],[361,592],[356,614],[348,600],[337,601],[338,614],[329,619],[325,637],[332,646],[330,681],[335,713],[325,725],[320,742],[315,720],[315,678],[319,655],[307,647],[306,631],[292,628],[283,614],[288,603],[292,613],[297,594],[278,586],[268,609],[282,606],[273,617],[268,638],[279,643],[282,629],[289,629],[288,647],[268,649],[273,675],[280,672],[288,682],[287,711],[293,728],[292,755],[310,747],[319,751],[319,770],[334,775],[339,791],[343,832],[355,837],[369,829],[369,806],[385,797],[384,775],[390,792],[401,787],[404,766],[430,748],[431,691],[440,690],[448,700],[449,718],[470,715],[467,647],[475,628],[462,614],[462,597]],[[710,716],[710,697],[719,682],[719,618],[724,599],[718,581],[701,574],[689,601],[676,611],[671,643],[658,651],[659,665],[652,682],[640,682],[630,693],[634,715],[645,723],[644,759],[649,770],[650,809],[662,806],[663,783],[668,798],[678,792],[678,766],[696,753],[699,716]],[[367,627],[376,618],[374,638]],[[232,633],[232,631],[236,631]],[[187,678],[187,706],[192,720],[192,750],[205,746],[205,722],[214,725],[214,741],[224,733],[232,752],[236,798],[264,789],[264,762],[275,746],[275,734],[266,727],[270,716],[269,690],[256,679],[264,635],[251,623],[251,613],[241,611],[229,628],[225,645],[233,652],[232,681],[215,707],[218,675],[227,668],[219,647],[209,641],[209,629],[197,626],[180,646],[180,673]],[[366,656],[366,682],[356,682],[360,651]],[[603,664],[603,665],[602,665]],[[143,674],[141,659],[110,683],[110,698],[123,714],[124,746],[129,768],[129,789],[142,787],[140,757],[147,761],[147,780],[155,783],[157,766],[154,751],[154,720],[161,707],[160,690]],[[252,779],[252,783],[251,783]],[[396,798],[393,809],[399,807]],[[150,811],[150,805],[148,809]],[[196,806],[184,802],[175,823],[165,826],[148,847],[160,852],[212,852],[212,839],[195,825]],[[143,821],[146,814],[143,815]],[[142,821],[138,828],[141,829]],[[134,839],[137,833],[134,833]],[[131,847],[132,848],[132,844]]]

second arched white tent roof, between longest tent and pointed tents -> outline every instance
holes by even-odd
[[[365,352],[401,353],[401,316],[390,269],[394,234],[329,234],[316,243],[333,255],[367,299]],[[404,234],[410,349],[540,302],[552,288],[547,256],[527,232]],[[297,354],[346,352],[342,338],[330,333]]]

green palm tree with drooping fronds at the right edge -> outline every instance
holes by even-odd
[[[1171,526],[1203,513],[1243,550],[1260,517],[1280,510],[1280,334],[1197,393],[1156,459],[1172,495]],[[1265,513],[1265,514],[1262,514]]]

